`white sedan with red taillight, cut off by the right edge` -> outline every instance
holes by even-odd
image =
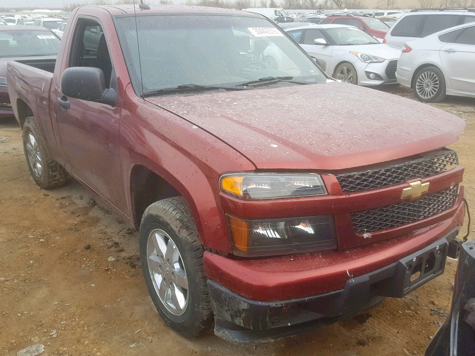
[[[422,102],[439,102],[446,95],[475,98],[475,24],[407,41],[396,77]]]

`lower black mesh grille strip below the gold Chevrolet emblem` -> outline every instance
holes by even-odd
[[[353,229],[357,234],[364,234],[415,223],[451,208],[457,196],[458,186],[452,186],[417,200],[351,213]]]

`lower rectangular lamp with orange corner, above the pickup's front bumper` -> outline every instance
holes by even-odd
[[[226,215],[233,253],[268,256],[336,248],[333,215],[241,220]]]

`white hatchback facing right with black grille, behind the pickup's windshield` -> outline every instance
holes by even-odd
[[[358,85],[396,83],[401,50],[378,42],[359,28],[332,24],[285,31],[336,79]]]

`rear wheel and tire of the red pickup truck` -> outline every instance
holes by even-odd
[[[23,124],[23,150],[31,177],[39,187],[52,189],[68,182],[66,169],[49,156],[34,116]]]

